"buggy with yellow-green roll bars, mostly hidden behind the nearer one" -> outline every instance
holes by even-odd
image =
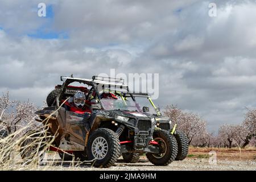
[[[130,97],[129,95],[126,96],[126,94],[123,95],[123,97]],[[155,106],[154,102],[151,100],[151,96],[148,93],[133,93],[134,98],[147,98],[147,100],[150,102],[151,108],[154,110],[155,119],[156,119],[156,128],[167,130],[171,135],[174,135],[174,137],[177,140],[178,145],[178,152],[175,160],[184,160],[188,155],[188,138],[185,133],[182,131],[176,130],[176,124],[172,125],[171,119],[168,117],[165,117],[159,110],[158,107]],[[144,107],[144,111],[149,111],[149,107]]]

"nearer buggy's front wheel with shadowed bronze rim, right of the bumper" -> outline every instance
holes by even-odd
[[[156,166],[167,166],[175,160],[177,156],[177,142],[174,135],[171,135],[166,130],[154,131],[153,138],[160,149],[160,154],[146,154],[147,159]]]

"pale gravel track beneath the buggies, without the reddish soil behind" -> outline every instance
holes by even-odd
[[[139,163],[129,164],[122,160],[122,157],[118,159],[115,166],[110,168],[94,168],[90,167],[89,163],[80,164],[76,166],[76,163],[72,162],[62,162],[61,159],[56,156],[53,160],[53,156],[49,155],[47,158],[47,166],[42,166],[44,170],[83,170],[83,171],[96,171],[96,170],[113,170],[113,171],[150,171],[150,170],[160,170],[160,171],[172,171],[172,170],[256,170],[256,160],[227,160],[227,159],[217,159],[217,164],[210,164],[209,159],[191,159],[187,158],[183,161],[175,161],[168,166],[154,166],[145,158],[141,156]],[[62,164],[61,164],[62,163]],[[72,167],[73,166],[73,167]],[[75,167],[76,166],[76,167]],[[41,167],[40,167],[41,168]]]

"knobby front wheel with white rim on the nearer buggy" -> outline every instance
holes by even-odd
[[[120,144],[117,134],[110,129],[97,129],[92,132],[86,147],[89,160],[94,167],[110,167],[120,156]]]

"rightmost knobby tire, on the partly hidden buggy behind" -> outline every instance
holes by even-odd
[[[177,140],[178,152],[175,160],[184,160],[188,155],[188,138],[182,131],[175,131],[174,137]]]

